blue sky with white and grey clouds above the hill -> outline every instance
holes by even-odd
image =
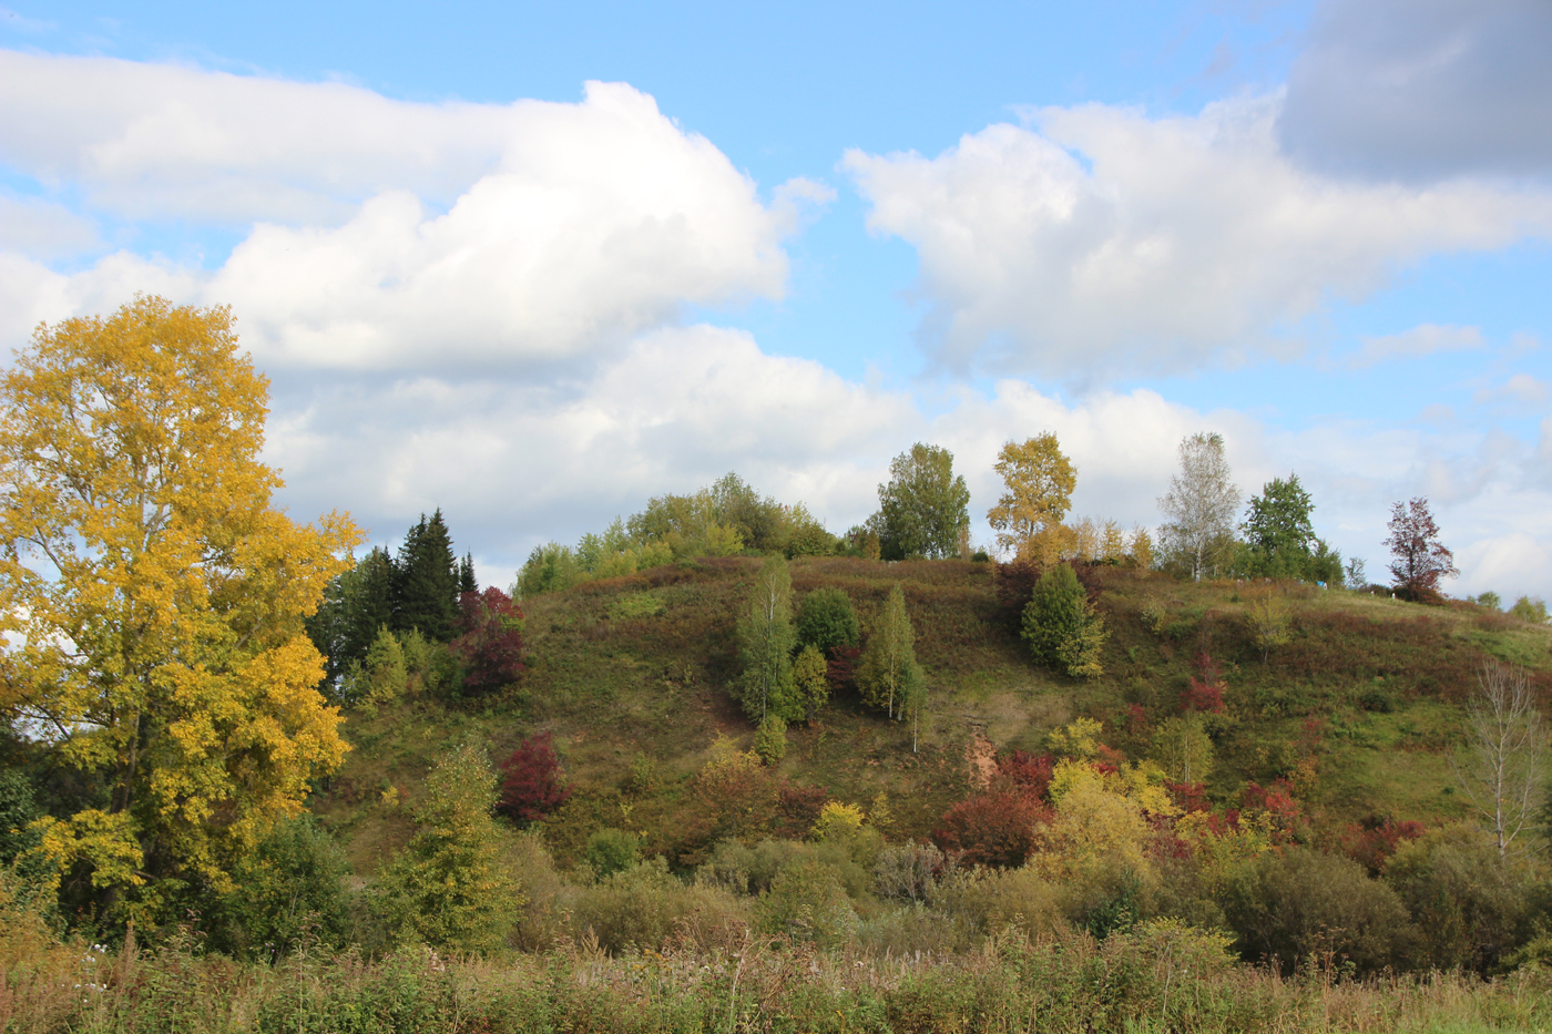
[[[1156,526],[1195,432],[1386,581],[1552,595],[1552,5],[0,8],[0,346],[228,304],[298,520],[481,582],[734,470],[832,531],[1006,441]]]

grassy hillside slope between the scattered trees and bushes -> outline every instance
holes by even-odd
[[[751,557],[706,559],[526,601],[521,691],[483,711],[400,703],[352,714],[346,736],[355,750],[317,810],[365,876],[408,837],[393,798],[413,796],[438,753],[473,734],[498,759],[548,730],[579,790],[549,824],[562,860],[602,826],[635,829],[647,851],[670,851],[686,782],[711,742],[719,733],[745,745],[751,737],[725,686],[736,675],[734,619],[757,567]],[[1079,683],[1026,660],[998,619],[989,565],[795,562],[799,599],[819,585],[844,588],[864,629],[891,585],[903,585],[930,705],[913,755],[908,728],[854,699],[835,700],[816,727],[790,730],[782,772],[864,806],[883,792],[894,834],[923,838],[968,792],[973,736],[1035,750],[1051,728],[1088,714],[1107,722],[1108,742],[1141,756],[1145,742],[1125,731],[1127,705],[1142,705],[1150,719],[1175,714],[1206,651],[1223,666],[1229,705],[1214,798],[1235,801],[1246,781],[1270,782],[1313,756],[1318,776],[1301,790],[1329,820],[1439,820],[1462,814],[1446,747],[1482,660],[1526,664],[1543,692],[1552,686],[1552,629],[1474,607],[1294,587],[1294,640],[1263,663],[1243,619],[1246,587],[1121,570],[1103,578],[1105,675]],[[1142,621],[1150,602],[1167,612],[1159,633]]]

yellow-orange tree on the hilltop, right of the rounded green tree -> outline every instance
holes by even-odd
[[[1007,486],[986,515],[996,543],[1020,559],[1054,562],[1077,484],[1077,469],[1062,455],[1057,436],[1044,432],[1023,444],[1004,444],[995,469]]]

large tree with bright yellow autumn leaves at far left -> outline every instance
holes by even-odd
[[[228,309],[146,297],[0,380],[0,710],[82,773],[37,851],[118,914],[227,891],[346,750],[303,616],[360,536],[272,506],[267,401]]]

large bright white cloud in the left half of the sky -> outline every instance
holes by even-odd
[[[0,160],[123,216],[259,220],[175,297],[231,304],[268,368],[556,362],[684,306],[779,298],[782,239],[833,197],[795,180],[762,203],[714,144],[624,84],[590,82],[580,104],[408,104],[0,51],[0,90],[16,101],[0,112]],[[79,311],[124,261],[28,270],[42,284],[29,321]]]

